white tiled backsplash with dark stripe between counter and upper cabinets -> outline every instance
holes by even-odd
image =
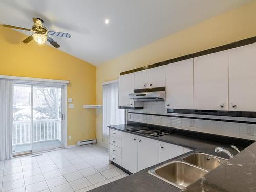
[[[128,110],[128,120],[178,129],[256,140],[256,118],[167,113],[165,102],[144,102]]]

